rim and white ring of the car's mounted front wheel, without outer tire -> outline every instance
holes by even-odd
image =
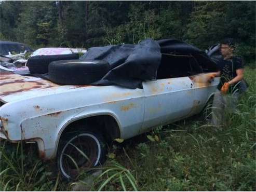
[[[97,166],[100,154],[101,146],[96,136],[90,133],[80,133],[64,145],[59,160],[60,170],[66,178],[70,179],[78,175],[77,167],[80,169]]]

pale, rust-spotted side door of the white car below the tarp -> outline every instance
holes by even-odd
[[[145,115],[142,130],[187,116],[193,106],[193,86],[189,77],[144,82]]]

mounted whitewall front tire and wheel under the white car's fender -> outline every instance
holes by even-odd
[[[99,133],[82,131],[66,133],[58,147],[57,165],[63,179],[74,180],[82,170],[99,166],[106,159],[106,147]],[[89,160],[83,155],[82,151]],[[74,161],[77,164],[78,170]]]

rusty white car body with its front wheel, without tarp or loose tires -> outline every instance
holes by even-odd
[[[57,85],[33,76],[1,71],[0,138],[35,142],[39,157],[57,159],[62,176],[98,166],[106,143],[128,139],[157,125],[198,114],[219,83],[214,73],[168,77],[158,70],[142,88]],[[192,75],[193,74],[193,75]]]

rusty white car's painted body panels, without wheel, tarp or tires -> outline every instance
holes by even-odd
[[[56,157],[62,132],[79,119],[110,116],[118,138],[128,139],[157,125],[199,113],[219,78],[211,73],[143,82],[143,89],[118,86],[59,86],[31,76],[0,77],[0,138],[34,141],[39,156]]]

